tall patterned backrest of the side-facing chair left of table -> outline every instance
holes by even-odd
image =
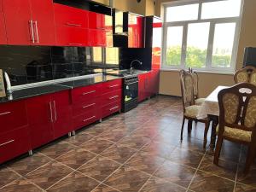
[[[183,108],[186,108],[190,105],[195,104],[193,77],[190,73],[187,73],[185,70],[181,70],[179,74],[181,92],[183,97]]]

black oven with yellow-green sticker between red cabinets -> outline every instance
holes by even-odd
[[[123,84],[122,111],[127,112],[137,107],[138,78],[137,76],[126,76]]]

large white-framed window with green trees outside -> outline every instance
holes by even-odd
[[[162,67],[234,70],[242,1],[190,0],[166,4]]]

